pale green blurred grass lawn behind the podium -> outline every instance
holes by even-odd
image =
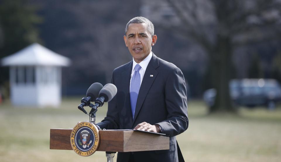
[[[72,128],[88,116],[77,109],[80,98],[65,98],[61,108],[15,108],[0,105],[0,161],[106,161],[71,150],[50,150],[51,128]],[[89,108],[86,111],[89,112]],[[97,122],[107,105],[97,111]],[[185,161],[280,161],[281,108],[241,108],[239,115],[207,115],[202,101],[189,101],[189,128],[177,136]],[[114,158],[116,161],[116,157]]]

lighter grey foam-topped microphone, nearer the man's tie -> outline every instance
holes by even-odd
[[[99,98],[95,100],[95,108],[92,108],[89,114],[91,114],[95,109],[102,106],[104,102],[109,102],[117,93],[117,88],[114,84],[108,83],[100,90]]]

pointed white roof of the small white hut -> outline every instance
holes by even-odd
[[[1,64],[2,66],[68,66],[70,59],[38,43],[33,43],[11,56],[4,57]]]

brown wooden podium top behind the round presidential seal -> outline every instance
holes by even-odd
[[[50,129],[50,149],[72,150],[71,131],[72,129]],[[133,130],[99,130],[99,133],[100,146],[97,151],[131,152],[169,149],[169,137],[165,136]]]

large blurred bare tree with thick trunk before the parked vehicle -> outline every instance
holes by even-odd
[[[280,37],[280,0],[167,0],[177,30],[201,44],[209,54],[210,82],[217,97],[209,112],[236,112],[229,96],[232,52],[237,46]]]

